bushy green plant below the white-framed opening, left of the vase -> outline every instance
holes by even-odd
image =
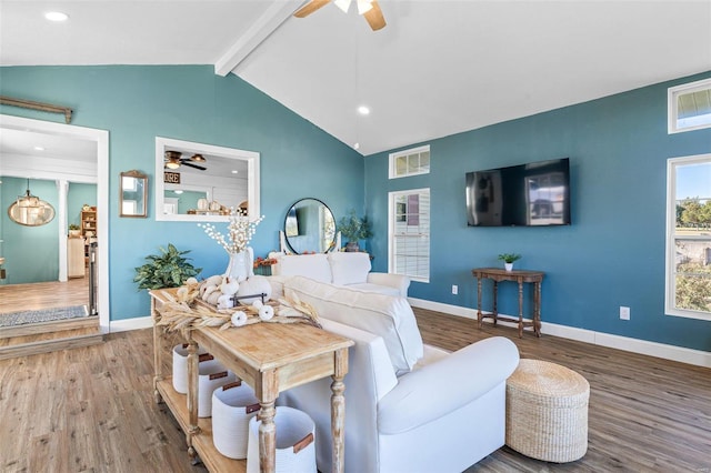
[[[136,268],[133,282],[138,282],[138,289],[178,288],[188,279],[196,276],[202,268],[194,268],[183,254],[190,250],[178,251],[168,243],[168,250],[160,246],[161,254],[146,256],[148,263]]]

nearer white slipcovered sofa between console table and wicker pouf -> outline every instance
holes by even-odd
[[[356,342],[346,376],[346,471],[461,472],[504,443],[505,380],[515,345],[490,338],[453,353],[424,345],[407,300],[307,278],[287,296],[313,305],[323,328]],[[317,464],[331,471],[330,383],[280,394],[317,424]]]

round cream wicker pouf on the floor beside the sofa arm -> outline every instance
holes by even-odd
[[[564,463],[588,451],[590,384],[565,366],[521,360],[507,380],[507,445],[527,456]]]

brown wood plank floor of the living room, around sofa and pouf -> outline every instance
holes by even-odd
[[[468,473],[711,471],[711,370],[415,313],[427,343],[457,350],[508,336],[523,358],[563,364],[591,385],[582,460],[539,462],[504,446]],[[152,333],[140,330],[112,333],[100,345],[0,361],[0,471],[204,472],[190,465],[184,435],[153,402],[152,360]],[[346,392],[348,400],[348,385]]]

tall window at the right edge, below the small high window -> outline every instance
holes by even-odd
[[[667,313],[711,320],[711,154],[670,159]]]

